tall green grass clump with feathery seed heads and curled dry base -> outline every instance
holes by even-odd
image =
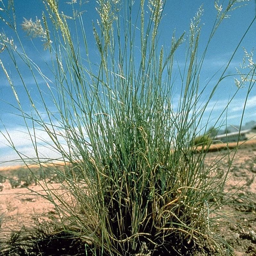
[[[73,2],[75,6],[76,1]],[[38,88],[40,107],[47,116],[40,114],[19,72],[33,114],[23,111],[0,62],[37,158],[26,159],[17,153],[25,164],[29,160],[41,166],[55,160],[39,157],[34,135],[40,129],[51,144],[43,142],[53,145],[64,165],[71,163],[70,175],[56,170],[65,181],[69,200],[54,191],[48,191],[48,198],[64,216],[61,221],[65,234],[93,245],[94,255],[232,254],[214,234],[212,227],[216,223],[211,218],[225,203],[223,186],[227,176],[215,175],[213,165],[204,165],[205,151],[195,155],[190,147],[191,141],[194,145],[209,144],[208,136],[197,137],[199,127],[230,62],[204,104],[201,97],[207,86],[199,90],[200,71],[211,38],[239,2],[227,1],[226,8],[215,4],[216,22],[201,56],[198,47],[202,7],[191,21],[177,106],[173,104],[174,55],[183,44],[185,33],[178,37],[173,34],[168,52],[159,47],[158,26],[165,1],[141,0],[134,21],[132,1],[98,1],[99,18],[92,28],[98,48],[96,68],[90,61],[82,14],[73,12],[72,18],[80,26],[72,36],[68,17],[59,11],[54,0],[45,1],[48,16],[43,14],[44,26],[38,19],[31,21],[27,32],[31,35],[38,31],[31,30],[31,26],[39,24],[47,39],[54,79],[43,75],[25,50],[20,54],[5,42],[13,62],[20,57],[27,64]],[[26,24],[27,20],[23,24],[25,30]],[[54,111],[47,107],[36,71],[45,80]],[[251,77],[250,88],[254,71],[255,65],[247,77]],[[11,138],[6,138],[12,144]]]

